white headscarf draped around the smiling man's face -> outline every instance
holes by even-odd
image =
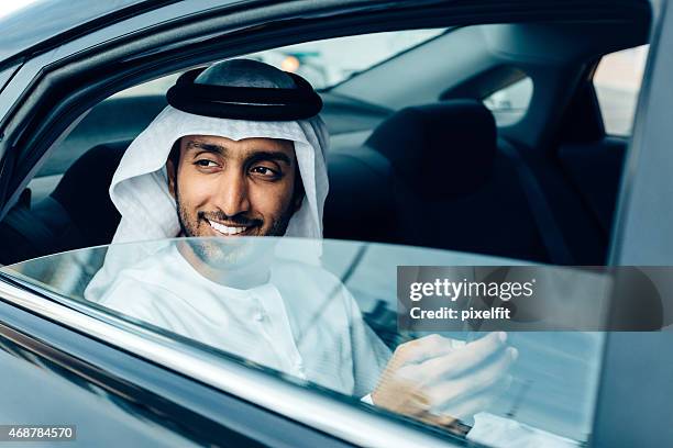
[[[284,71],[249,59],[220,63],[219,85],[232,87],[294,88]],[[205,70],[196,82],[212,82],[212,70]],[[224,77],[222,76],[224,74]],[[176,201],[168,191],[166,160],[174,143],[186,135],[223,136],[234,141],[252,137],[294,142],[299,173],[306,192],[301,206],[291,216],[285,236],[322,237],[322,211],[328,193],[326,153],[329,135],[319,117],[288,122],[228,120],[195,115],[170,105],[129,146],[112,183],[110,199],[121,214],[113,244],[174,238],[180,232]],[[157,245],[153,245],[153,250]],[[317,247],[319,256],[320,248]],[[124,266],[147,257],[147,250],[108,249],[106,261],[89,283],[86,296],[96,300]]]

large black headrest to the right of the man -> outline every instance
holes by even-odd
[[[365,145],[383,154],[416,193],[448,199],[468,194],[489,179],[496,142],[488,109],[475,100],[451,100],[400,110]]]

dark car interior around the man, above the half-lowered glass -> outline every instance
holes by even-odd
[[[593,75],[646,44],[648,25],[450,27],[320,90],[324,237],[604,265],[628,137],[606,133]],[[522,80],[532,92],[514,120],[485,105]],[[109,244],[112,175],[165,105],[157,92],[92,108],[0,223],[0,262]]]

